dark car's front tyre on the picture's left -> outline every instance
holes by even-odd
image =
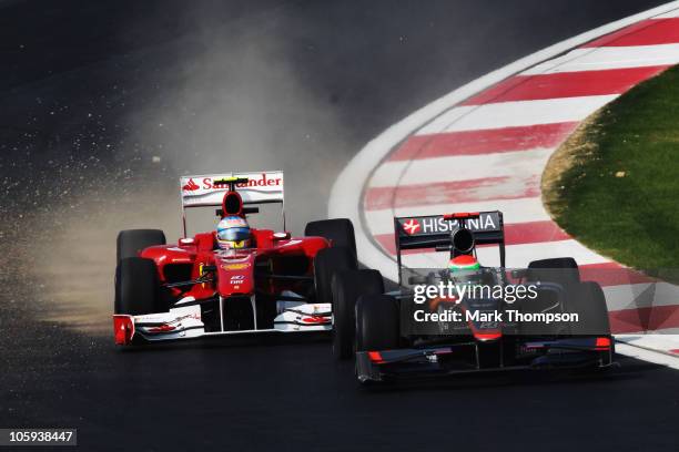
[[[356,351],[398,348],[399,327],[396,298],[388,295],[364,295],[356,301]]]

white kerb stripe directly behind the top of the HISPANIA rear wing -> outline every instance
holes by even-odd
[[[503,201],[503,214],[505,226],[515,223],[546,222],[549,214],[543,207],[539,197]],[[374,235],[394,233],[395,216],[425,216],[440,215],[454,212],[488,212],[497,209],[497,201],[484,201],[473,203],[436,204],[429,206],[399,207],[396,209],[385,208],[365,212],[366,223]]]

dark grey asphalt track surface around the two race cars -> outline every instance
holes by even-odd
[[[158,85],[179,83],[165,78],[172,62],[200,52],[201,42],[192,41],[196,23],[220,30],[226,54],[252,42],[243,28],[257,35],[274,30],[294,60],[296,86],[341,124],[321,124],[325,134],[311,143],[304,138],[317,124],[285,124],[288,140],[302,143],[296,152],[310,158],[325,140],[328,173],[314,181],[317,195],[304,208],[294,197],[288,203],[303,224],[324,215],[332,172],[411,111],[525,54],[660,2],[139,3],[0,2],[0,427],[78,428],[84,450],[677,450],[679,376],[655,364],[619,357],[621,367],[606,378],[495,376],[366,392],[357,389],[352,366],[335,363],[323,341],[219,340],[120,351],[108,330],[43,321],[54,309],[50,294],[21,261],[28,247],[50,246],[49,237],[37,240],[31,232],[51,226],[49,218],[38,220],[68,204],[64,189],[73,179],[120,181],[118,170],[130,160],[138,164],[121,176],[128,184],[174,179],[172,165],[183,161],[171,156],[184,143],[163,154],[171,163],[162,170],[135,146],[104,143],[129,132],[116,127],[129,113],[114,104],[160,109]],[[178,40],[189,44],[172,45]],[[111,93],[116,83],[126,94]],[[89,116],[101,111],[95,121]],[[175,127],[191,125],[178,117],[183,121]],[[308,171],[285,166],[294,157],[277,156],[288,182]],[[14,185],[21,181],[30,184]]]

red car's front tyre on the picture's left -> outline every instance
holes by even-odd
[[[155,263],[141,257],[121,259],[115,268],[114,314],[162,312]]]

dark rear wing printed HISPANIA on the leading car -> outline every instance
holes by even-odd
[[[394,218],[399,274],[402,250],[435,248],[448,251],[452,245],[452,234],[460,227],[466,227],[472,232],[476,245],[499,245],[500,266],[505,267],[503,213],[493,210]]]

